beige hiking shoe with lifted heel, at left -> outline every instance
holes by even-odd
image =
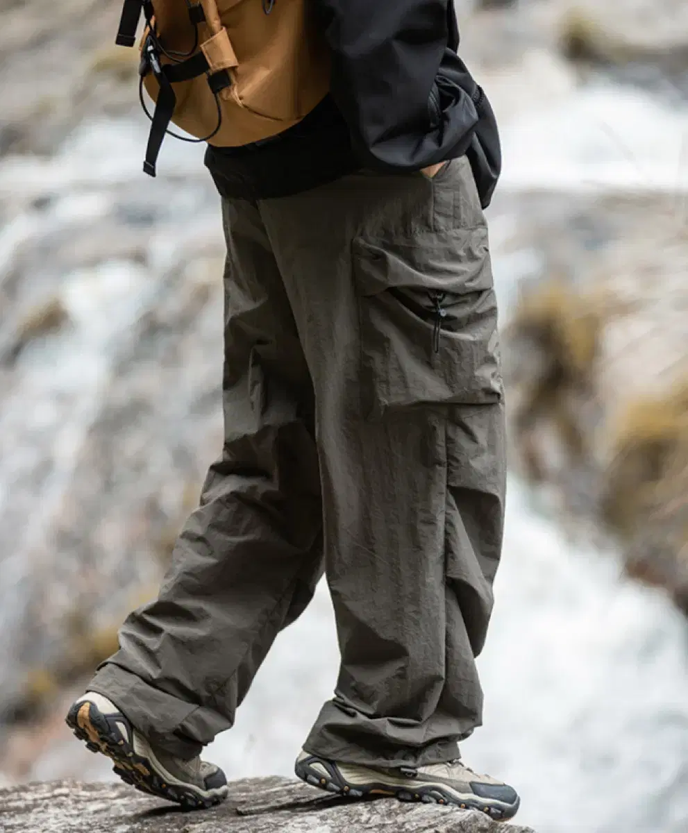
[[[152,746],[114,703],[88,691],[67,715],[69,726],[87,749],[112,758],[122,781],[152,796],[177,801],[185,810],[199,810],[227,798],[227,779],[200,757],[182,761]]]

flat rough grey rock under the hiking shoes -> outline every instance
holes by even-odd
[[[513,833],[531,828],[508,826]],[[212,811],[185,813],[124,786],[57,781],[0,789],[2,833],[498,833],[505,826],[468,812],[398,801],[342,801],[297,781],[232,784]]]

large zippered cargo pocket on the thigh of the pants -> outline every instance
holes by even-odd
[[[353,244],[367,419],[396,409],[498,402],[496,297],[486,227]]]

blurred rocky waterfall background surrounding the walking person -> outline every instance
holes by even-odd
[[[466,757],[521,786],[536,829],[616,833],[623,806],[629,833],[685,833],[688,7],[459,11],[502,124],[490,220],[513,440],[486,727]],[[155,593],[221,442],[217,196],[202,147],[168,139],[143,177],[119,13],[2,5],[0,780],[108,776],[63,711]],[[216,759],[288,774],[336,665],[321,588]],[[561,806],[585,807],[583,826]]]

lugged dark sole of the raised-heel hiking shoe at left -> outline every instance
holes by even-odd
[[[92,752],[107,755],[114,762],[112,771],[125,784],[135,787],[147,796],[157,796],[174,801],[183,810],[207,810],[220,804],[227,796],[204,796],[191,786],[179,783],[170,785],[156,772],[152,761],[138,755],[132,745],[122,737],[117,726],[112,726],[107,717],[91,701],[74,703],[67,714],[67,726],[79,741]]]

